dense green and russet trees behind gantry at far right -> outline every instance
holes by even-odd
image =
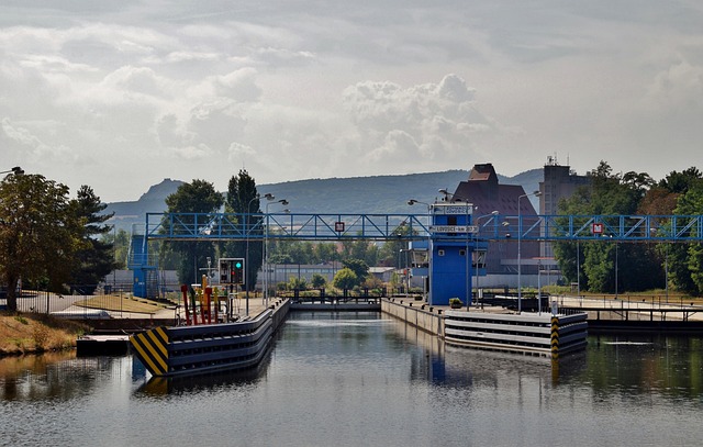
[[[606,161],[559,203],[567,215],[700,215],[703,176],[695,168],[656,181],[646,172],[613,172]],[[570,282],[598,293],[671,288],[703,294],[703,247],[698,243],[556,242],[559,268]],[[668,283],[667,283],[668,281]]]

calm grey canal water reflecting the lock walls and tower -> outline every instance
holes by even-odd
[[[7,446],[701,446],[703,338],[475,351],[379,313],[291,313],[244,373],[157,380],[131,356],[0,360]]]

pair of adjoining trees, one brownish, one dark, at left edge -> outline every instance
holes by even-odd
[[[0,182],[0,281],[8,310],[16,311],[23,289],[81,294],[114,268],[112,244],[104,241],[112,214],[88,186],[69,198],[65,185],[41,175],[9,175]]]

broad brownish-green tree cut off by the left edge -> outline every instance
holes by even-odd
[[[83,232],[65,185],[41,175],[13,175],[0,182],[0,276],[8,284],[8,310],[18,310],[20,280],[63,290],[75,254],[86,248]]]

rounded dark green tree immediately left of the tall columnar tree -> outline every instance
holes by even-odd
[[[183,183],[178,190],[166,198],[168,213],[214,213],[222,206],[222,193],[215,191],[214,186],[205,180],[193,180]],[[180,221],[187,225],[196,223],[196,216],[183,214]],[[200,215],[198,222],[204,222]],[[167,222],[164,223],[166,227]],[[165,243],[168,248],[180,255],[177,268],[179,281],[186,284],[199,281],[198,268],[207,265],[207,258],[214,255],[211,242],[175,241]]]

